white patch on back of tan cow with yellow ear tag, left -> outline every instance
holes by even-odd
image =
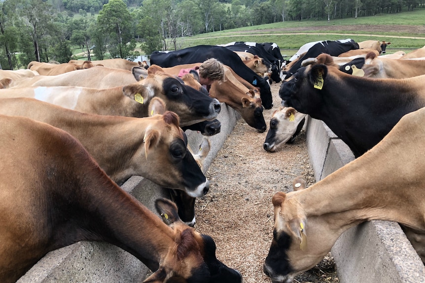
[[[80,94],[81,88],[75,88],[72,94],[66,91],[58,91],[57,87],[37,87],[34,89],[35,99],[68,109],[75,109]]]

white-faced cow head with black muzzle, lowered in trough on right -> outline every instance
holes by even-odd
[[[307,115],[296,111],[293,107],[281,107],[273,113],[270,128],[267,132],[263,148],[275,152],[283,143],[290,142],[301,131]]]

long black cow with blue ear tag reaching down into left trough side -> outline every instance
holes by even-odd
[[[215,58],[229,66],[244,80],[254,87],[258,87],[263,107],[265,109],[273,107],[272,92],[267,81],[248,68],[235,52],[225,47],[198,45],[177,51],[155,51],[150,56],[150,63],[162,67],[173,67],[181,64],[201,63],[210,58]]]

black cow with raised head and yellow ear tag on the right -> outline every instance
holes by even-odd
[[[285,106],[322,120],[359,157],[402,116],[425,106],[424,80],[425,75],[377,80],[312,63],[284,82],[279,96]]]

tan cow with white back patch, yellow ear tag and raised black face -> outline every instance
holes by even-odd
[[[186,86],[155,66],[149,69],[145,79],[137,82],[133,77],[133,83],[109,89],[29,87],[5,89],[0,93],[4,98],[31,97],[80,112],[128,117],[147,117],[148,103],[154,96],[165,101],[167,110],[177,113],[181,126],[213,120],[221,110],[217,99]]]

